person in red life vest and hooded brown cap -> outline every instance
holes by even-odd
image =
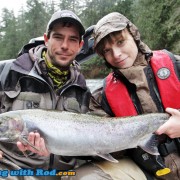
[[[161,156],[148,155],[147,158],[147,153],[141,149],[130,152],[144,172],[156,178],[179,179],[180,112],[177,109],[180,108],[180,56],[165,50],[151,51],[141,41],[137,27],[117,12],[104,16],[95,25],[94,48],[112,68],[112,73],[105,78],[104,87],[96,92],[106,113],[124,117],[166,110],[172,115],[156,132],[167,135],[159,145]],[[145,154],[146,158],[143,158]],[[128,161],[125,166],[121,161],[116,165],[110,162],[96,165],[113,179],[144,179],[142,173],[138,178],[131,171],[133,162]],[[124,176],[118,177],[121,169]],[[134,165],[135,169],[139,168]]]

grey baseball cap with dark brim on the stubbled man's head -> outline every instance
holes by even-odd
[[[76,14],[74,14],[72,11],[69,11],[69,10],[56,11],[52,15],[51,19],[49,20],[49,23],[46,28],[46,33],[48,33],[53,28],[53,25],[56,22],[64,22],[64,21],[68,21],[68,22],[76,24],[79,27],[80,35],[83,35],[85,33],[85,29],[84,29],[79,17]]]

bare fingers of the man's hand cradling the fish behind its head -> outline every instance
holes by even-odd
[[[44,139],[40,137],[39,133],[30,132],[28,136],[28,141],[35,146],[39,151],[31,147],[29,144],[24,145],[20,141],[17,142],[17,146],[20,151],[25,152],[26,150],[37,153],[40,156],[49,156],[49,151],[46,149]]]

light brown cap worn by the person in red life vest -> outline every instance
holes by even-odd
[[[100,19],[94,27],[94,48],[106,35],[123,30],[129,20],[118,12],[112,12]]]

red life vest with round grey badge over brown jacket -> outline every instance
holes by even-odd
[[[172,59],[164,51],[153,51],[150,60],[164,108],[180,108],[180,82]],[[110,73],[106,78],[105,95],[116,117],[137,115],[126,86]]]

